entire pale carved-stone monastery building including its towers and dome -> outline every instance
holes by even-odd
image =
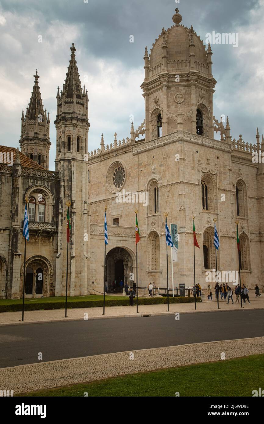
[[[180,282],[186,287],[193,284],[194,215],[200,245],[200,249],[195,248],[196,282],[206,287],[206,272],[216,268],[216,218],[220,235],[218,270],[238,271],[240,263],[242,284],[253,288],[258,283],[263,289],[264,165],[254,163],[252,157],[254,152],[264,151],[264,139],[259,142],[258,130],[256,143],[244,142],[241,135],[238,140],[232,139],[228,117],[225,122],[214,117],[217,81],[212,75],[211,47],[208,45],[206,50],[193,28],[181,25],[178,12],[176,9],[172,18],[174,25],[167,31],[162,29],[150,55],[147,47],[145,50],[145,120],[136,131],[132,123],[126,140],[118,141],[115,133],[111,144],[105,145],[102,134],[100,148],[91,153],[87,153],[87,90],[81,88],[72,45],[67,77],[62,91],[58,89],[57,93],[55,173],[44,170],[48,169],[49,117],[40,99],[39,76],[34,75],[31,103],[25,120],[23,114],[21,118],[19,143],[22,153],[28,157],[33,153],[35,162],[39,152],[47,159],[35,169],[33,161],[26,167],[19,163],[22,159],[17,153],[12,168],[0,165],[2,297],[22,295],[22,220],[25,200],[34,197],[34,193],[44,197],[45,219],[29,223],[26,267],[32,269],[34,283],[28,296],[65,293],[67,205],[72,226],[68,262],[71,296],[103,290],[105,206],[108,282],[135,279],[134,211],[138,209],[140,287],[150,281],[159,287],[167,286],[167,212],[169,226],[173,223],[178,228],[178,262],[173,264],[175,286]],[[44,116],[42,126],[39,114]],[[35,121],[31,123],[33,117]],[[35,125],[34,137],[30,125]],[[220,139],[214,139],[214,132],[220,133]],[[43,209],[41,202],[36,197],[36,211]],[[237,220],[240,254],[236,247]],[[171,287],[170,248],[168,252]],[[43,275],[42,293],[36,293],[40,291],[39,268]]]

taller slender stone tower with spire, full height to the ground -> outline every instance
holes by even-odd
[[[67,265],[67,204],[71,219],[69,242],[69,296],[86,295],[88,288],[88,169],[85,161],[88,149],[88,96],[81,89],[75,60],[76,48],[70,47],[71,58],[61,93],[57,92],[56,171],[59,172],[60,205],[58,254],[56,261],[56,296],[65,294]]]

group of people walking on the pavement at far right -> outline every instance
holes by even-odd
[[[225,284],[221,284],[219,285],[218,283],[216,283],[216,285],[214,286],[214,291],[215,291],[215,298],[217,299],[220,298],[220,300],[226,300],[226,298],[228,299],[227,303],[229,303],[230,299],[232,301],[232,304],[238,302],[239,303],[239,296],[240,296],[240,285],[238,284],[237,286],[235,286],[235,290],[233,292],[232,288],[228,285],[228,283]],[[250,303],[249,300],[249,296],[248,296],[249,290],[247,289],[247,287],[245,286],[245,284],[243,284],[243,286],[241,287],[241,297],[243,300],[243,303],[246,302],[246,300],[248,301],[248,303]],[[212,289],[211,286],[208,285],[208,289],[207,289],[207,295],[208,295],[208,300],[212,300]],[[236,300],[233,301],[233,294],[236,295]],[[255,286],[255,295],[256,297],[260,297],[261,294],[259,293],[259,287],[256,284]],[[219,297],[220,296],[220,297]]]

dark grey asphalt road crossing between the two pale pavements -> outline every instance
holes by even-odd
[[[0,368],[188,343],[264,336],[264,310],[0,327]]]

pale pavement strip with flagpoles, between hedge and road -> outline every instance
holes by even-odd
[[[242,304],[245,309],[261,309],[264,308],[264,295],[261,298],[255,298],[255,293],[250,293],[250,304],[246,302]],[[214,298],[213,298],[214,299]],[[179,303],[170,304],[170,313],[175,312],[206,312],[217,310],[217,301],[206,299],[205,302],[199,302],[196,305],[197,310],[195,311],[194,303]],[[226,301],[219,301],[219,307],[221,311],[224,310],[236,310],[241,309],[240,303],[229,304]],[[117,318],[125,316],[142,316],[146,314],[168,314],[167,304],[160,305],[139,305],[139,313],[136,313],[136,305],[131,306],[111,306],[106,307],[105,315],[103,316],[103,308],[76,308],[67,310],[67,318],[64,317],[65,311],[63,309],[55,310],[43,310],[43,311],[25,311],[24,322],[22,323],[21,315],[22,312],[1,312],[0,313],[0,325],[6,324],[27,324],[39,321],[66,321],[70,319],[83,319],[83,314],[87,313],[88,318]]]

